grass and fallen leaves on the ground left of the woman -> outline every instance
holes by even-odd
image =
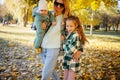
[[[36,80],[41,76],[39,55],[33,50],[29,28],[0,29],[0,80]]]

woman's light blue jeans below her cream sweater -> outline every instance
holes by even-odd
[[[41,80],[50,80],[50,77],[53,80],[60,80],[55,71],[59,51],[59,48],[43,48],[42,53],[40,53],[42,63],[44,64]]]

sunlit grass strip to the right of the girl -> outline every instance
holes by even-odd
[[[88,47],[92,49],[99,50],[109,50],[109,51],[120,51],[120,31],[94,31],[93,35],[89,35],[86,32],[87,38],[89,40]],[[88,48],[87,47],[87,48]]]

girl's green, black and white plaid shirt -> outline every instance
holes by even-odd
[[[76,73],[80,71],[80,62],[75,62],[72,59],[72,54],[76,53],[80,48],[80,37],[77,32],[71,33],[63,43],[65,52],[63,59],[63,69],[72,69]]]

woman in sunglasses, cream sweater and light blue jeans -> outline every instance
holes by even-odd
[[[68,0],[54,0],[54,15],[56,17],[56,26],[51,26],[45,34],[42,41],[42,62],[44,64],[42,71],[42,80],[59,80],[55,71],[57,58],[60,51],[61,42],[61,23],[70,15]]]

